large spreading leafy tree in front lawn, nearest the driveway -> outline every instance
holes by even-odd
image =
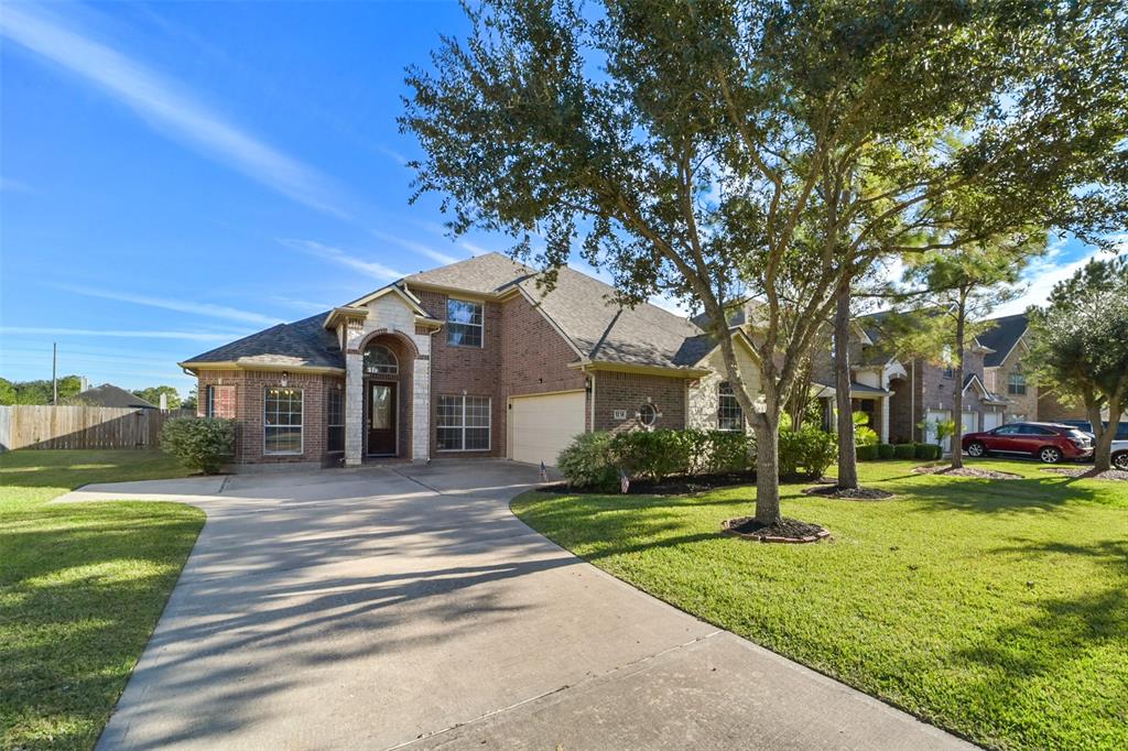
[[[543,238],[549,286],[579,241],[620,302],[704,309],[756,433],[765,525],[783,405],[843,284],[902,246],[943,249],[916,242],[941,196],[975,187],[978,230],[1010,228],[1122,139],[1105,3],[495,0],[468,16],[465,42],[408,72],[418,191],[447,196],[455,235],[505,232],[520,257]],[[725,325],[749,293],[759,398]]]

